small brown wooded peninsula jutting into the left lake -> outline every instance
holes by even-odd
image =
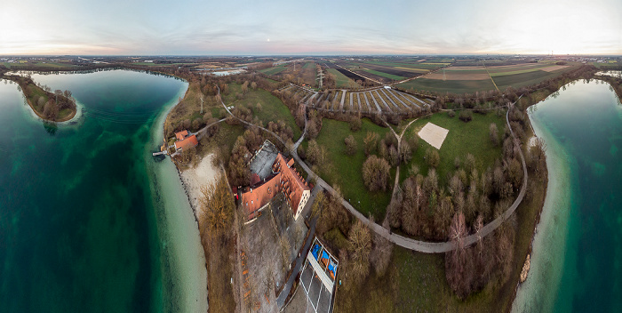
[[[48,122],[67,122],[77,113],[76,100],[70,91],[52,90],[47,86],[40,86],[28,76],[6,75],[1,73],[0,78],[11,80],[20,87],[28,106],[36,116]]]

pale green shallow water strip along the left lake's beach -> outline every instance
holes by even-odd
[[[151,169],[157,229],[162,253],[164,311],[206,312],[208,309],[207,268],[196,215],[177,166],[170,160],[154,162],[151,152],[163,142],[163,125],[187,87],[167,104],[151,130],[145,156]]]

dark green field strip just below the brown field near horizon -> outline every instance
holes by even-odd
[[[495,82],[497,82],[495,80]],[[452,92],[452,93],[473,93],[478,91],[495,90],[495,86],[488,79],[482,80],[441,80],[418,78],[409,82],[398,84],[398,87],[411,91],[429,92]]]

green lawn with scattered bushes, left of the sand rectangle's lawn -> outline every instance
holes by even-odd
[[[395,176],[391,175],[387,182],[388,189],[386,192],[371,193],[363,184],[361,170],[366,159],[363,151],[363,139],[367,132],[377,132],[379,138],[382,139],[385,137],[385,133],[390,131],[388,128],[380,127],[363,118],[361,130],[351,132],[348,123],[324,118],[317,143],[326,147],[327,157],[326,165],[320,166],[319,175],[331,186],[339,185],[344,198],[349,199],[350,203],[361,213],[365,215],[371,213],[378,219],[384,219],[387,205],[391,200],[391,188]],[[355,137],[357,144],[357,151],[354,156],[347,156],[345,153],[344,140],[350,134]],[[361,202],[360,205],[359,201]]]

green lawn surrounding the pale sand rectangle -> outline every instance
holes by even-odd
[[[424,117],[411,124],[404,132],[403,140],[407,140],[408,136],[416,136],[417,132],[428,122],[448,129],[447,137],[443,141],[443,146],[439,150],[441,163],[436,168],[439,177],[439,185],[445,186],[447,183],[447,173],[455,172],[454,159],[460,158],[464,163],[466,154],[470,153],[475,157],[477,171],[482,173],[489,166],[492,167],[499,157],[501,157],[501,144],[497,147],[492,146],[490,142],[489,127],[490,123],[497,124],[499,137],[503,135],[506,129],[505,116],[497,116],[494,113],[488,113],[485,116],[473,114],[473,120],[465,123],[459,120],[459,114],[449,117],[446,112],[436,113],[433,116]],[[411,162],[406,165],[400,165],[400,181],[408,177],[408,170],[411,165],[419,165],[419,173],[427,175],[428,166],[423,157],[426,155],[427,148],[435,149],[425,140],[419,139],[419,148],[413,154]],[[468,173],[467,173],[468,174]]]

